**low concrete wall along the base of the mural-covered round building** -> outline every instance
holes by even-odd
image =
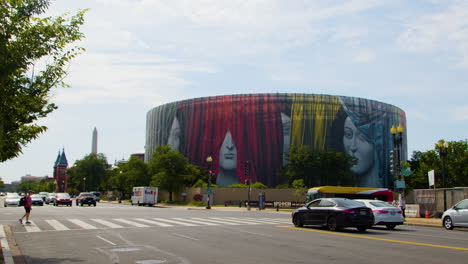
[[[213,188],[212,203],[215,205],[224,205],[225,202],[231,201],[237,205],[239,201],[246,201],[248,195],[247,188]],[[265,193],[266,201],[276,202],[304,202],[307,190],[304,189],[299,197],[295,196],[295,189],[252,189],[250,194],[251,201],[258,201],[260,192]],[[206,201],[206,188],[186,188],[178,193],[172,194],[173,201],[182,201],[182,193],[187,194],[187,201],[194,201],[196,194],[203,195],[203,201]],[[169,193],[166,191],[159,192],[159,200],[169,200]]]

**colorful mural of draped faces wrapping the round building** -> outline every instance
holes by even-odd
[[[147,114],[146,153],[169,145],[192,164],[212,156],[216,184],[247,179],[281,184],[279,170],[292,145],[333,149],[358,160],[356,184],[390,187],[390,128],[402,124],[401,109],[363,98],[314,94],[242,94],[195,98],[158,106]],[[406,159],[406,133],[402,160]],[[246,175],[248,167],[248,175]],[[333,184],[331,184],[333,185]]]

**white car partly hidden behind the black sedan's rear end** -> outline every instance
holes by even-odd
[[[402,225],[405,219],[403,212],[387,202],[379,200],[356,200],[362,202],[365,206],[372,209],[374,213],[374,225],[384,225],[389,230],[393,230],[395,226]]]

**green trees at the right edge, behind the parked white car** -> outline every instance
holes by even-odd
[[[468,186],[468,141],[450,141],[446,157],[446,187]],[[442,159],[437,146],[426,152],[415,151],[408,161],[414,173],[405,177],[406,191],[428,189],[427,173],[435,172],[436,188],[443,187]]]

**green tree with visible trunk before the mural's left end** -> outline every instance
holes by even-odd
[[[180,152],[172,150],[167,145],[158,146],[149,162],[151,185],[168,191],[169,201],[172,201],[172,193],[184,186],[187,166],[187,158]]]

